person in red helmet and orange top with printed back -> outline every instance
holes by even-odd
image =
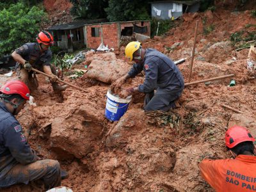
[[[252,134],[234,126],[225,134],[225,143],[234,159],[204,159],[198,166],[202,177],[216,191],[256,191],[256,157]]]

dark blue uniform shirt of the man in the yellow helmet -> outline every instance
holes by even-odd
[[[156,49],[146,49],[142,64],[134,64],[128,75],[133,78],[142,70],[145,72],[145,80],[138,87],[140,92],[150,93],[157,89],[157,94],[165,94],[184,88],[184,79],[179,68]]]

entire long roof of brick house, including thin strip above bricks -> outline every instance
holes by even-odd
[[[67,30],[67,29],[76,29],[88,25],[99,25],[99,24],[112,24],[112,23],[125,23],[125,22],[141,22],[141,21],[150,21],[150,20],[131,20],[131,21],[118,21],[118,22],[106,22],[106,19],[96,19],[96,20],[77,20],[67,24],[62,24],[58,26],[52,26],[48,30]]]

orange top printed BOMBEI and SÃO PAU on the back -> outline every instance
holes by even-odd
[[[256,157],[204,159],[199,165],[202,177],[216,191],[256,191]]]

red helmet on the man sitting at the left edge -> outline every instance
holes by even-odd
[[[6,95],[19,94],[22,98],[29,100],[29,88],[22,81],[8,81],[2,86],[0,92]]]

